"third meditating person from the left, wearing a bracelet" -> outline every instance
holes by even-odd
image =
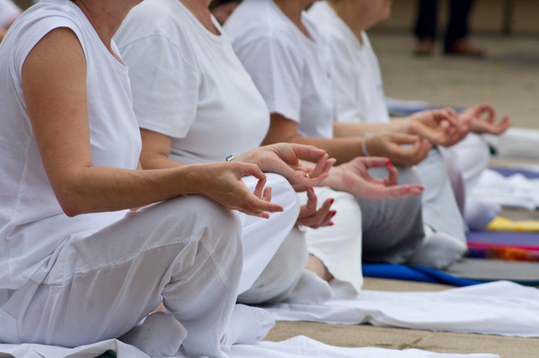
[[[225,24],[234,50],[269,107],[271,124],[265,143],[312,144],[326,149],[342,168],[354,166],[358,158],[368,154],[386,156],[398,164],[423,161],[431,145],[426,139],[419,140],[417,135],[405,130],[363,135],[370,130],[343,128],[335,123],[335,99],[331,73],[324,63],[323,42],[316,24],[303,12],[313,3],[312,0],[245,0]],[[461,130],[456,128],[453,112],[434,111],[424,117],[426,122],[448,125],[447,129],[437,131],[445,140],[459,138]],[[410,146],[404,148],[399,144]],[[445,166],[442,168],[443,175]],[[404,183],[419,181],[414,169],[406,167],[399,168],[399,178]],[[315,189],[319,198],[338,195],[342,197],[340,203],[347,203],[341,209],[339,202],[335,202],[338,212],[335,225],[342,219],[345,228],[361,218],[363,227],[363,243],[359,243],[363,255],[352,239],[328,236],[325,228],[307,231],[309,252],[320,259],[318,267],[326,275],[336,276],[334,272],[339,272],[345,277],[343,281],[355,282],[350,276],[360,270],[357,265],[361,256],[370,262],[389,263],[416,263],[425,258],[421,263],[446,267],[466,250],[464,223],[447,178],[431,190],[452,204],[452,210],[438,219],[450,223],[446,226],[451,229],[449,232],[432,230],[431,223],[424,221],[420,198],[369,201],[357,195],[353,185],[333,187],[329,181],[324,184],[331,189]]]

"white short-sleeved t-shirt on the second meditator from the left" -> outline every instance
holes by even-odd
[[[142,2],[115,40],[139,126],[171,137],[172,160],[217,162],[260,146],[269,127],[264,99],[226,36],[208,31],[182,2]]]

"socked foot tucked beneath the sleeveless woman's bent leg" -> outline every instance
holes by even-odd
[[[187,331],[174,316],[164,312],[148,315],[146,319],[119,338],[150,357],[171,357],[187,337]]]

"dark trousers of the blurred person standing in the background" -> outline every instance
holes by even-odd
[[[474,0],[451,0],[450,19],[447,25],[444,45],[451,47],[457,40],[468,35],[468,16]],[[436,39],[438,30],[438,0],[419,0],[416,36]]]

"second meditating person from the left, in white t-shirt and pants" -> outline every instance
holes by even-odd
[[[230,153],[265,169],[268,155],[284,152],[284,144],[262,147],[259,153],[264,155],[250,152],[267,134],[269,112],[208,6],[208,0],[147,0],[129,13],[115,36],[130,67],[145,169],[222,161]],[[313,147],[287,146],[298,155],[315,159],[325,154]],[[313,170],[322,173],[322,179],[333,162],[319,161],[318,169]],[[313,167],[307,162],[302,165]],[[288,173],[291,170],[286,166],[287,170],[275,166],[268,169],[282,175],[268,174],[267,180],[273,188],[274,201],[285,210],[267,221],[242,216],[244,269],[238,302],[245,304],[299,299],[293,294],[296,284],[303,279],[307,282],[301,286],[306,286],[313,274],[303,272],[307,247],[303,231],[297,226],[329,226],[327,235],[332,237],[332,220],[337,214],[330,209],[334,198],[324,200],[317,210],[314,190],[303,185],[309,202],[298,216],[299,198],[287,181],[294,181]],[[363,177],[350,176],[355,177],[358,187],[364,186]],[[256,181],[245,181],[254,190]],[[310,182],[315,185],[321,180]],[[391,184],[395,183],[380,185],[377,195],[384,197],[395,190],[409,195],[406,187]],[[361,236],[361,227],[348,225],[348,235]],[[271,261],[260,259],[257,252],[271,254]]]

